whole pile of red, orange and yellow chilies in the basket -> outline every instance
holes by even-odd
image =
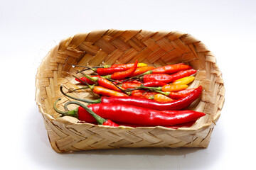
[[[76,67],[82,67],[77,66]],[[95,100],[75,98],[60,91],[75,101],[65,103],[65,110],[54,109],[61,116],[69,115],[81,122],[117,127],[164,126],[167,128],[190,127],[205,113],[186,110],[201,96],[202,86],[188,89],[196,70],[178,63],[163,67],[150,67],[138,61],[131,64],[113,64],[92,69],[94,74],[75,77],[79,84],[91,89],[101,97]],[[75,91],[75,90],[73,90]],[[71,91],[69,91],[70,93]],[[86,106],[80,102],[90,103]],[[68,105],[79,107],[67,111]]]

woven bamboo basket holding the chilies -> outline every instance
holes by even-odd
[[[189,109],[206,113],[190,128],[121,126],[112,128],[78,119],[59,117],[53,110],[61,110],[70,101],[60,93],[80,88],[73,75],[77,69],[70,64],[89,65],[124,64],[135,60],[154,67],[185,62],[197,69],[196,79],[189,88],[203,86],[201,98]],[[210,135],[220,117],[225,88],[220,69],[210,50],[200,40],[178,31],[148,30],[95,30],[65,38],[48,52],[36,74],[36,103],[46,125],[50,145],[56,152],[121,147],[208,147]],[[80,90],[72,95],[78,98],[95,98],[90,91]],[[70,106],[72,107],[77,106]]]

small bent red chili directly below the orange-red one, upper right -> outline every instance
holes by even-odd
[[[145,74],[142,79],[144,82],[148,81],[162,81],[164,83],[170,83],[176,79],[181,79],[183,77],[191,76],[196,73],[196,69],[187,69],[180,72],[176,72],[174,74]]]

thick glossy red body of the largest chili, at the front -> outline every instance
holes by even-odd
[[[70,101],[69,103],[75,102],[76,101]],[[102,118],[110,119],[119,123],[132,123],[135,125],[177,125],[197,120],[203,115],[206,115],[205,113],[189,110],[162,112],[149,108],[119,103],[97,103],[87,107]],[[78,118],[80,118],[80,120],[84,120],[82,115],[86,114],[88,114],[87,110],[84,110],[80,113],[81,116]]]

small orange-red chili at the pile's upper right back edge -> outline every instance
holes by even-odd
[[[157,67],[155,69],[152,69],[152,73],[153,74],[159,74],[159,73],[171,74],[171,73],[179,72],[186,69],[192,69],[192,67],[183,63],[179,63],[179,64],[166,65],[163,67]]]

